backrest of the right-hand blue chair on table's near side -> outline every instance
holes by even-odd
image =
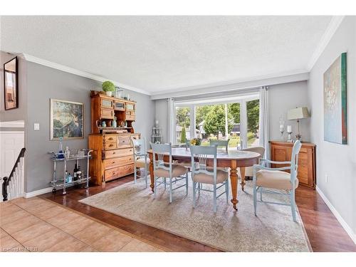
[[[192,155],[192,177],[194,174],[204,173],[211,175],[214,179],[214,184],[216,184],[216,146],[201,146],[201,145],[191,145],[190,153]],[[206,168],[209,156],[214,157],[213,171],[209,172]],[[198,159],[198,162],[195,159]],[[211,157],[210,157],[211,158]]]

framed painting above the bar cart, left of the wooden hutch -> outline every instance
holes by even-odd
[[[84,104],[51,99],[51,140],[84,138]]]

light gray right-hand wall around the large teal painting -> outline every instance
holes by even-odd
[[[324,141],[323,73],[347,52],[347,145]],[[308,98],[312,112],[311,140],[317,145],[317,184],[356,233],[356,17],[347,16],[310,71]],[[328,175],[328,182],[325,181]]]

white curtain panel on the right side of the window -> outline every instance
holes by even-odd
[[[269,123],[268,123],[268,88],[260,88],[260,136],[259,142],[264,147],[265,159],[269,159]]]

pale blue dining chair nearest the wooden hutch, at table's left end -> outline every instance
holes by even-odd
[[[141,172],[140,175],[137,174],[138,169],[145,169],[145,181],[146,181],[146,188],[148,183],[147,172],[148,166],[150,164],[150,158],[147,155],[147,147],[146,147],[146,138],[143,137],[141,139],[135,139],[131,137],[131,142],[133,146],[133,158],[134,158],[134,179],[135,184],[137,177],[142,178]]]

